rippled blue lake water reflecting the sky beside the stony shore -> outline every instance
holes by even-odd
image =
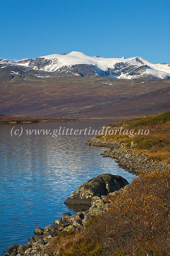
[[[0,255],[10,245],[26,244],[36,227],[45,228],[65,212],[75,213],[76,209],[68,208],[64,201],[87,180],[102,173],[118,174],[129,182],[133,177],[114,160],[100,155],[106,148],[85,145],[92,135],[52,137],[53,133],[26,135],[26,130],[53,131],[60,126],[62,130],[97,129],[122,120],[0,125]]]

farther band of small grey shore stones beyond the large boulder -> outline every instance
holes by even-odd
[[[133,152],[133,148],[128,150],[125,148],[125,143],[103,142],[97,137],[91,138],[86,142],[89,146],[108,147],[110,150],[105,150],[101,155],[116,159],[118,166],[125,169],[129,173],[138,175],[140,171],[151,172],[152,170],[170,168],[169,161],[160,162],[153,159],[147,160],[148,156],[139,155]]]

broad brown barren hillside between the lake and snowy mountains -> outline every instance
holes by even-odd
[[[87,78],[36,70],[26,74],[23,67],[10,67],[9,74],[7,68],[0,69],[0,115],[114,117],[153,115],[170,108],[166,79]]]

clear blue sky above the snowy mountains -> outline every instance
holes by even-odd
[[[169,0],[4,0],[0,10],[0,58],[79,51],[170,63]]]

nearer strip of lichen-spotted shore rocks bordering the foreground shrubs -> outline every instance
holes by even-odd
[[[121,188],[118,191],[109,193],[111,196],[117,196],[127,189],[126,185],[124,188]],[[46,248],[50,246],[50,241],[53,237],[56,237],[59,232],[70,230],[79,232],[89,220],[93,219],[98,214],[107,211],[109,208],[109,199],[106,195],[101,197],[94,196],[91,201],[91,207],[89,210],[84,211],[82,209],[80,212],[77,212],[74,215],[71,215],[70,212],[65,213],[61,219],[55,220],[52,225],[46,226],[44,229],[36,228],[34,231],[35,237],[31,236],[28,239],[28,243],[25,245],[11,245],[7,249],[7,253],[4,256],[52,256],[44,252]],[[55,252],[55,255],[58,255],[58,252]]]

